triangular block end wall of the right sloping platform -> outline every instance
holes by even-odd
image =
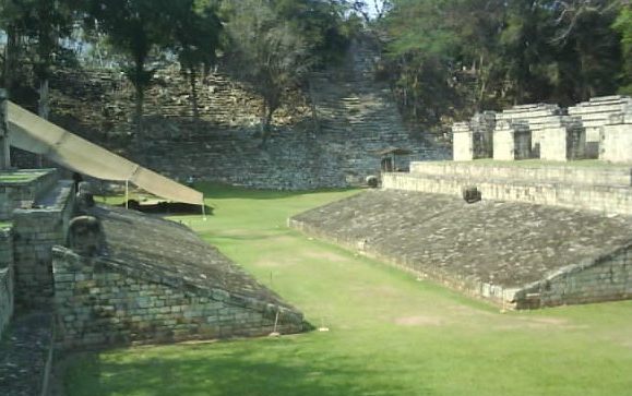
[[[516,292],[518,309],[632,298],[632,245],[561,268]]]

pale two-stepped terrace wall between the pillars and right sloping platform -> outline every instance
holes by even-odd
[[[453,196],[461,196],[465,187],[477,187],[484,200],[632,215],[631,167],[592,164],[413,163],[409,173],[382,175],[382,187]]]

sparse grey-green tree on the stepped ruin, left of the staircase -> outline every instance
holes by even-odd
[[[286,94],[298,87],[312,63],[296,28],[277,17],[269,2],[243,0],[231,4],[227,24],[231,71],[263,98],[262,142],[272,132],[272,118]]]

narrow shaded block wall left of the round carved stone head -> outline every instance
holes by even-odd
[[[52,302],[51,249],[65,243],[74,211],[72,182],[60,181],[44,201],[50,206],[13,213],[15,303],[22,308],[46,308]]]

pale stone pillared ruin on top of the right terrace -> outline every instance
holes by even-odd
[[[521,105],[452,127],[453,158],[632,163],[632,98],[605,96],[562,109]]]

